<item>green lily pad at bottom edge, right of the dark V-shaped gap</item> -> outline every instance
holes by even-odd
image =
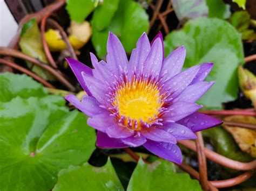
[[[199,182],[192,180],[187,173],[174,173],[169,161],[157,160],[145,164],[139,160],[132,173],[127,191],[130,190],[201,190]]]

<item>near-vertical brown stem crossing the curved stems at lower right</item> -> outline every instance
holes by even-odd
[[[204,140],[201,132],[196,132],[196,148],[197,148],[197,158],[199,164],[199,182],[203,190],[207,190],[207,166],[206,158],[204,153]]]

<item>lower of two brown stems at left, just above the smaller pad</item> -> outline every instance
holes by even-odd
[[[41,77],[37,76],[36,74],[30,72],[30,70],[23,68],[22,66],[17,65],[17,63],[12,62],[10,60],[4,60],[4,59],[0,59],[0,63],[10,66],[12,68],[15,68],[31,77],[33,77],[33,79],[37,80],[38,82],[44,84],[44,86],[48,87],[48,88],[55,88],[54,86],[52,86],[52,84],[50,84],[49,82],[46,82],[44,79],[42,79]]]

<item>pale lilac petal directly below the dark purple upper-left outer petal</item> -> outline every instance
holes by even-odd
[[[82,76],[84,79],[84,83],[93,95],[93,97],[96,98],[96,100],[100,103],[104,103],[104,98],[105,98],[105,90],[106,90],[106,84],[103,84],[102,81],[96,79],[93,76],[89,76],[82,72]]]

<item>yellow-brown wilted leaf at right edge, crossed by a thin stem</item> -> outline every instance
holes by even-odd
[[[224,121],[252,124],[256,127],[256,118],[252,116],[229,116]],[[235,142],[242,151],[247,152],[256,158],[256,131],[253,129],[241,128],[223,124],[224,128],[231,133]]]

